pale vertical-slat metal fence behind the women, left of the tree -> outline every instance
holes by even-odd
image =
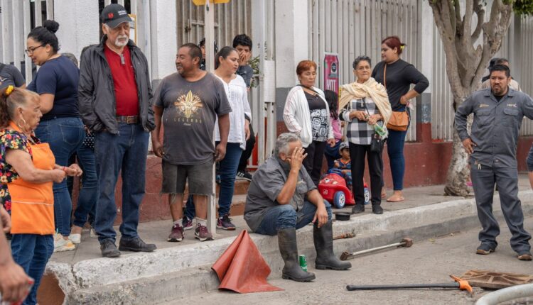
[[[338,53],[340,84],[354,82],[352,61],[359,55],[381,61],[381,41],[397,35],[407,48],[402,59],[416,66],[417,1],[309,0],[309,56],[318,64],[318,87],[323,87],[325,52]],[[407,140],[416,140],[416,109]]]

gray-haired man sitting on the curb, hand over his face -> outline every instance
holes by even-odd
[[[298,135],[282,133],[276,140],[274,155],[257,169],[246,197],[244,220],[254,233],[278,235],[279,251],[285,262],[284,279],[309,282],[311,272],[298,262],[296,229],[313,222],[316,269],[348,270],[333,254],[331,206],[316,189],[302,167],[304,154]]]

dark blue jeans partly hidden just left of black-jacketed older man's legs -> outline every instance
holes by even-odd
[[[82,227],[90,215],[90,225],[95,227],[95,209],[98,199],[98,179],[96,174],[96,157],[92,148],[82,145],[77,150],[77,162],[83,170],[82,189],[77,197],[77,207],[74,211],[74,226]]]

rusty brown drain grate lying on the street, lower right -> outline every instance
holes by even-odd
[[[468,270],[461,276],[461,279],[468,281],[470,286],[489,289],[502,289],[520,284],[533,283],[532,275],[489,270]]]

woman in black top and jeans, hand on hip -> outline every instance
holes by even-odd
[[[381,57],[372,77],[387,89],[392,111],[407,111],[409,113],[409,100],[419,96],[428,86],[428,79],[419,70],[400,59],[405,44],[397,36],[387,37],[382,41]],[[384,75],[387,77],[384,79]],[[409,89],[414,84],[413,89]],[[409,113],[410,114],[410,113]],[[387,153],[389,154],[394,194],[387,201],[399,202],[404,200],[404,142],[407,131],[393,131],[389,129],[387,138]]]

